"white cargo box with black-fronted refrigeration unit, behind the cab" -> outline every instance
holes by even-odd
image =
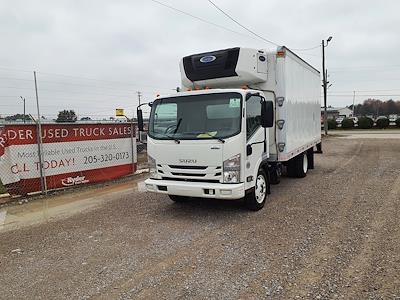
[[[202,59],[210,62],[202,64]],[[274,102],[270,161],[287,161],[321,141],[319,71],[286,47],[195,54],[184,57],[180,66],[183,88],[248,86]]]

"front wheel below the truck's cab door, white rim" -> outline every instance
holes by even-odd
[[[257,173],[255,187],[244,198],[246,207],[252,211],[260,210],[264,207],[268,194],[268,176],[263,169],[260,169]]]

